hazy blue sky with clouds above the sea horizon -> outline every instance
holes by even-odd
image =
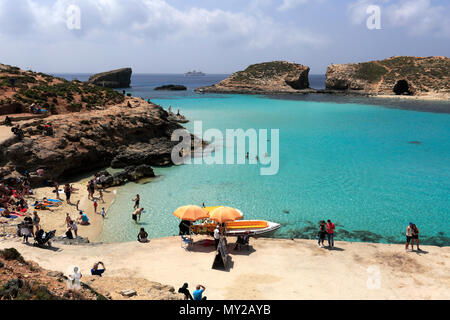
[[[450,0],[0,0],[0,63],[46,73],[324,74],[399,55],[450,56]]]

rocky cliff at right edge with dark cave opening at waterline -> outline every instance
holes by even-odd
[[[327,69],[326,88],[376,95],[449,95],[450,59],[392,57],[380,61],[334,64]]]

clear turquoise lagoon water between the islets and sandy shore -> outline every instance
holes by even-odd
[[[278,222],[276,237],[315,238],[317,222],[331,219],[339,240],[403,242],[412,221],[422,242],[450,244],[450,114],[245,95],[153,102],[180,108],[204,129],[279,129],[279,172],[261,176],[249,164],[155,168],[152,182],[121,189],[105,242],[135,240],[140,227],[153,238],[178,234],[172,212],[205,202]],[[131,220],[137,193],[146,209],[140,224]]]

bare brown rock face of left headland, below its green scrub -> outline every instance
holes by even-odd
[[[127,106],[130,102],[131,108]],[[50,124],[49,132],[45,125]],[[55,115],[21,121],[24,132],[0,144],[0,175],[44,168],[44,176],[58,179],[110,166],[171,165],[175,129],[160,106],[127,98],[106,110]],[[39,181],[38,181],[39,180]]]

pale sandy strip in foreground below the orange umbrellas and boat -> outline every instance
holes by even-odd
[[[15,247],[25,259],[55,271],[77,265],[86,276],[101,260],[107,271],[98,289],[112,291],[115,298],[119,289],[114,278],[132,278],[121,290],[144,291],[146,282],[139,279],[175,289],[188,282],[191,292],[196,284],[204,285],[212,300],[450,299],[450,247],[422,246],[419,253],[405,252],[403,245],[337,241],[330,251],[314,240],[251,238],[249,251],[233,251],[234,238],[229,238],[231,268],[220,271],[211,268],[214,247],[199,244],[202,237],[194,239],[190,251],[181,248],[178,237],[148,244],[55,243],[58,250],[15,239],[0,241],[0,249]],[[95,288],[96,281],[91,285]]]

